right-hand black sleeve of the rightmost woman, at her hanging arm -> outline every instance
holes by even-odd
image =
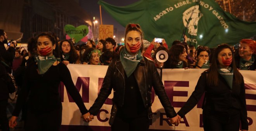
[[[245,88],[244,88],[243,78],[242,78],[242,84],[240,89],[240,100],[241,100],[240,121],[241,121],[242,129],[248,130],[246,97],[245,97]]]

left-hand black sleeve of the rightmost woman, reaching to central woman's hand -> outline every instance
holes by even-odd
[[[195,107],[197,102],[202,97],[202,94],[204,94],[206,87],[206,72],[202,73],[202,75],[199,77],[199,80],[197,82],[197,85],[195,86],[195,91],[192,92],[191,96],[185,103],[185,105],[178,111],[178,115],[182,118],[187,114],[191,109]]]

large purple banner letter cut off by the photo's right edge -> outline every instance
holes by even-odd
[[[248,90],[256,90],[256,84],[244,84],[244,88]],[[246,99],[256,100],[256,94],[246,94]],[[247,111],[256,111],[255,105],[246,105]]]

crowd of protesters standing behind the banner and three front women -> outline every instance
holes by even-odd
[[[54,35],[54,34],[53,34]],[[55,35],[54,35],[55,36]],[[56,36],[55,36],[56,37]],[[88,40],[80,45],[76,45],[74,40],[59,40],[56,37],[57,48],[56,57],[67,64],[91,64],[91,65],[109,65],[112,59],[118,57],[119,52],[124,49],[121,44],[116,44],[112,38],[99,40],[96,44],[93,40]],[[145,48],[142,54],[153,60],[157,68],[175,69],[175,68],[195,68],[209,69],[211,66],[211,50],[206,46],[194,47],[185,42],[175,40],[171,47],[168,47],[166,41],[155,42],[152,40],[149,47]],[[34,38],[28,41],[28,51],[23,47],[16,47],[15,56],[12,61],[12,71],[15,74],[19,67],[26,66],[29,57],[33,58],[39,55],[36,52],[37,43]],[[168,52],[166,62],[158,62],[156,54],[158,51]],[[256,54],[256,42],[251,39],[242,39],[239,49],[234,49],[236,65],[241,70],[255,70],[254,58]],[[33,52],[33,53],[31,53]]]

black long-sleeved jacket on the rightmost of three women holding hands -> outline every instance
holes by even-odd
[[[206,101],[203,105],[203,110],[211,113],[229,115],[233,115],[232,113],[234,113],[234,111],[240,111],[242,129],[248,130],[246,94],[242,75],[240,77],[240,79],[242,79],[241,84],[236,84],[235,78],[233,78],[232,89],[230,89],[227,82],[220,74],[218,74],[218,86],[208,86],[206,82],[207,73],[208,71],[205,71],[201,74],[195,86],[195,91],[193,91],[185,105],[177,114],[183,118],[185,114],[195,107],[203,93],[206,92]]]

